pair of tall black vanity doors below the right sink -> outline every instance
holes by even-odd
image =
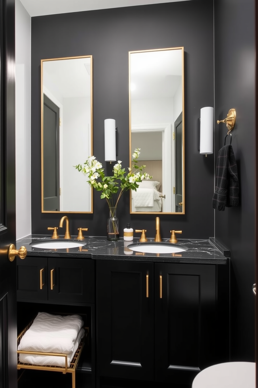
[[[97,261],[99,375],[191,383],[213,364],[216,271],[209,264]]]

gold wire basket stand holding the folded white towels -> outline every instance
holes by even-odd
[[[22,339],[22,336],[26,333],[26,331],[31,327],[33,323],[33,320],[25,327],[24,330],[19,334],[17,337],[17,347],[19,346],[19,343]],[[80,341],[80,344],[77,348],[77,351],[75,352],[75,355],[73,356],[73,359],[70,362],[70,366],[67,365],[67,354],[63,353],[46,353],[46,352],[26,352],[25,350],[17,350],[17,369],[34,369],[38,371],[54,371],[54,372],[62,372],[62,373],[72,373],[72,388],[75,388],[75,371],[77,368],[77,364],[80,359],[80,355],[82,353],[82,349],[85,344],[86,338],[89,336],[89,327],[84,327],[85,334],[82,340]],[[88,339],[89,340],[89,339]],[[38,355],[45,355],[45,356],[59,356],[65,358],[65,366],[53,366],[53,365],[32,365],[32,364],[24,364],[19,361],[19,353],[26,353],[26,354],[38,354]]]

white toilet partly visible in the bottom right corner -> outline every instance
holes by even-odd
[[[255,362],[224,362],[203,369],[192,388],[255,388]]]

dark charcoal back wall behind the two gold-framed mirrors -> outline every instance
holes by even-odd
[[[94,155],[104,161],[104,119],[112,117],[119,131],[118,159],[127,167],[128,51],[184,46],[186,214],[161,215],[161,236],[170,237],[171,229],[183,230],[182,238],[214,236],[214,156],[198,153],[196,126],[200,108],[214,106],[213,0],[32,17],[31,39],[32,233],[48,233],[62,216],[41,213],[40,60],[93,55]],[[69,215],[71,233],[88,227],[89,235],[106,236],[107,217],[106,201],[95,192],[92,215]],[[120,235],[131,222],[155,236],[155,215],[130,215],[129,193],[120,200],[118,217]]]

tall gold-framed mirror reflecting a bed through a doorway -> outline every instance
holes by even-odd
[[[185,213],[183,47],[129,52],[130,158],[152,175],[130,193],[130,213]],[[132,164],[132,159],[131,159]]]

